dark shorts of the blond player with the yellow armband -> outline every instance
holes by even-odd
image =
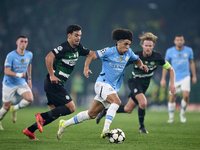
[[[132,78],[128,80],[128,87],[131,90],[131,93],[128,95],[128,97],[129,98],[131,97],[133,101],[138,105],[138,101],[135,98],[135,96],[140,93],[145,94],[149,85],[142,84],[138,82],[136,79]]]

